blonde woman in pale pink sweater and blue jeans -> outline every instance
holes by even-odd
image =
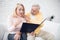
[[[28,22],[28,18],[24,15],[25,9],[22,4],[17,4],[15,8],[15,13],[11,16],[10,22],[11,26],[9,28],[10,34],[8,35],[8,40],[20,40],[21,38],[21,26],[23,22]]]

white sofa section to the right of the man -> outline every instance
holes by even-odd
[[[47,20],[44,22],[44,27],[42,28],[42,30],[53,34],[55,36],[55,40],[60,40],[60,38],[58,38],[59,29],[60,29],[60,23],[55,23]]]

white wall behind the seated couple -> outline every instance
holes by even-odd
[[[8,24],[8,16],[13,13],[17,3],[24,4],[26,13],[30,11],[33,4],[39,4],[44,17],[54,15],[53,22],[60,23],[60,0],[0,0],[0,24]]]

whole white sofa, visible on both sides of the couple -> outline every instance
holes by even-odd
[[[60,24],[58,24],[58,23],[45,21],[44,27],[42,28],[42,30],[52,33],[57,40],[57,33],[58,33],[59,26],[60,26]],[[7,26],[0,24],[0,40],[7,40],[8,34],[9,33],[7,31]],[[40,37],[36,37],[36,40],[43,40],[43,39]]]

